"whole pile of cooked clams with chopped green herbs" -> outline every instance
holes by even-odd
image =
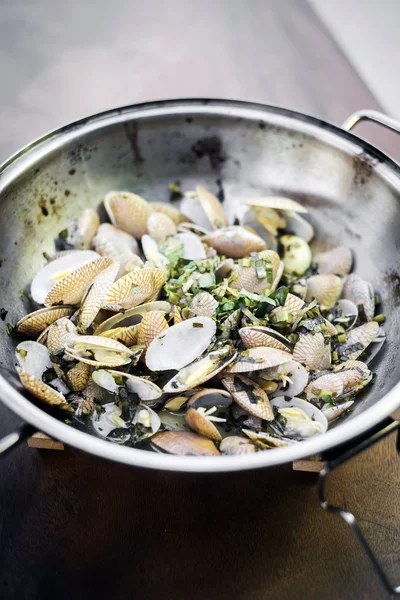
[[[204,187],[178,203],[130,192],[83,211],[10,334],[23,386],[110,442],[246,454],[324,433],[371,384],[379,298],[344,247],[313,253],[304,206]],[[244,205],[244,206],[243,206]],[[189,218],[190,217],[190,218]]]

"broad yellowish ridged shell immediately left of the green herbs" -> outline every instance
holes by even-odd
[[[128,310],[157,294],[166,281],[162,269],[136,269],[117,281],[109,289],[103,308]]]

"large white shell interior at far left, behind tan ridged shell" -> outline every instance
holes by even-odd
[[[56,277],[58,273],[77,269],[97,258],[101,258],[100,255],[92,250],[76,250],[49,262],[33,278],[31,283],[32,299],[38,304],[43,304],[48,293],[57,283],[57,279],[53,279],[53,277]]]

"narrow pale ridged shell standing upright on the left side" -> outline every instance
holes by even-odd
[[[78,313],[78,331],[84,333],[95,320],[114,283],[119,263],[112,263],[94,278]]]

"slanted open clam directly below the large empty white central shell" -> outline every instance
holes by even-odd
[[[186,323],[186,321],[183,321]],[[183,392],[195,388],[212,379],[225,369],[236,358],[236,351],[231,346],[223,346],[212,350],[180,370],[175,377],[164,386],[164,392]]]

